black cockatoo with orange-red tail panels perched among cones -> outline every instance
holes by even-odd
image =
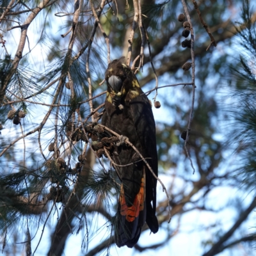
[[[115,131],[139,150],[157,175],[156,124],[147,96],[124,57],[108,65],[105,79],[108,84],[102,125]],[[140,238],[147,222],[153,233],[158,231],[156,218],[157,179],[148,170],[139,154],[129,145],[116,146],[111,155],[118,165],[114,168],[121,180],[115,243],[132,248]]]

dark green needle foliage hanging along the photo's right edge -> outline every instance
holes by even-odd
[[[243,49],[237,67],[233,67],[233,79],[237,87],[232,96],[236,110],[231,111],[234,117],[234,129],[230,133],[229,143],[236,145],[236,152],[241,156],[237,175],[242,175],[243,186],[255,189],[256,177],[256,26],[252,23],[250,1],[244,0],[242,11],[243,22],[238,23],[237,41]]]

